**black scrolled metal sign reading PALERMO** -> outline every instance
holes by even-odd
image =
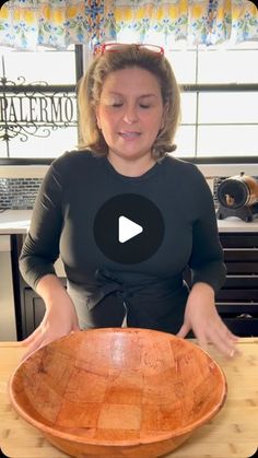
[[[28,136],[46,138],[51,130],[78,125],[75,85],[49,85],[46,82],[26,84],[0,79],[0,140],[14,137],[26,141]]]

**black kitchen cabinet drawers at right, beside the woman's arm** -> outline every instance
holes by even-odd
[[[258,233],[220,233],[227,275],[216,307],[238,336],[258,336]]]

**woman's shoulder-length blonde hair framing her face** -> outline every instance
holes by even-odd
[[[180,92],[168,60],[157,54],[136,45],[122,46],[119,51],[106,51],[96,56],[86,73],[79,82],[79,149],[90,149],[95,154],[105,156],[108,145],[97,127],[95,110],[99,103],[105,79],[110,72],[139,67],[153,73],[161,85],[162,98],[166,105],[165,122],[152,146],[156,161],[167,152],[175,151],[174,138],[180,118]]]

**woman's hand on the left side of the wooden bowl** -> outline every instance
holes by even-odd
[[[22,360],[47,343],[80,330],[74,305],[63,286],[60,289],[59,284],[55,294],[50,296],[55,300],[45,298],[46,313],[40,325],[21,342],[27,347]]]

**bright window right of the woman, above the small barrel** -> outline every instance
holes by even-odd
[[[169,49],[183,85],[179,157],[246,161],[258,156],[258,43]]]

